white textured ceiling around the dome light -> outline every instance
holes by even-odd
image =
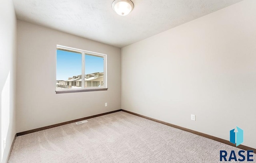
[[[119,16],[113,0],[13,0],[17,18],[116,47],[210,14],[242,0],[132,0]]]

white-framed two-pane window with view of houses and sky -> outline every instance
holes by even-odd
[[[57,45],[56,93],[107,90],[105,54]]]

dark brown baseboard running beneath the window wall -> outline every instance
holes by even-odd
[[[59,123],[59,124],[53,124],[53,125],[45,126],[45,127],[42,127],[42,128],[36,128],[36,129],[33,129],[33,130],[19,132],[19,133],[17,133],[17,136],[26,135],[26,134],[30,134],[30,133],[33,133],[33,132],[38,132],[38,131],[41,131],[41,130],[46,130],[46,129],[49,129],[49,128],[55,128],[55,127],[62,126],[62,125],[65,125],[65,124],[71,124],[71,123],[74,123],[74,122],[78,122],[78,121],[82,121],[82,120],[87,120],[87,119],[95,118],[95,117],[98,117],[98,116],[104,116],[106,114],[111,114],[111,113],[120,112],[120,111],[121,111],[121,109],[114,110],[112,112],[106,112],[106,113],[102,113],[102,114],[97,114],[97,115],[94,115],[94,116],[88,116],[88,117],[84,117],[84,118],[79,118],[79,119],[71,120],[71,121],[68,121],[68,122],[62,122],[62,123]]]

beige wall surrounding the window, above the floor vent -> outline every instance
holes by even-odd
[[[108,90],[56,94],[57,44],[107,54]],[[120,48],[18,20],[17,132],[120,109],[120,53]]]

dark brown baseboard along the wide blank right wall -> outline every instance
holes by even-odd
[[[202,136],[202,137],[206,137],[208,139],[212,139],[212,140],[215,140],[215,141],[218,141],[220,143],[224,143],[224,144],[227,144],[227,145],[231,145],[233,147],[236,147],[236,145],[234,145],[233,143],[230,143],[230,141],[228,140],[225,140],[225,139],[221,139],[219,137],[215,137],[215,136],[210,136],[208,134],[204,134],[202,132],[197,132],[197,131],[194,131],[194,130],[190,130],[188,128],[184,128],[184,127],[180,127],[180,126],[177,126],[177,125],[174,125],[174,124],[170,124],[170,123],[167,123],[167,122],[164,122],[164,121],[160,121],[160,120],[156,120],[154,118],[150,118],[150,117],[147,117],[147,116],[143,116],[143,115],[140,115],[140,114],[137,114],[137,113],[134,113],[134,112],[130,112],[130,111],[127,111],[127,110],[123,110],[121,109],[121,111],[123,112],[127,112],[127,113],[130,113],[130,114],[133,114],[133,115],[136,115],[136,116],[139,116],[139,117],[142,117],[142,118],[146,118],[148,120],[152,120],[154,122],[158,122],[160,124],[164,124],[164,125],[167,125],[167,126],[171,126],[173,128],[178,128],[180,130],[183,130],[183,131],[186,131],[186,132],[190,132],[192,134],[196,134],[196,135],[199,135],[199,136]],[[252,148],[252,147],[248,147],[248,146],[245,146],[245,145],[238,145],[237,148],[240,148],[240,149],[243,149],[243,150],[253,150],[254,153],[256,153],[256,149],[255,148]]]

